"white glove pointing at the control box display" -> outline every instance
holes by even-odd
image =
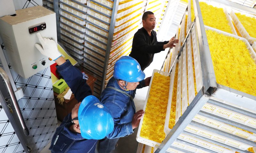
[[[36,33],[36,36],[43,47],[40,44],[35,44],[35,46],[43,55],[50,57],[53,61],[61,56],[54,40],[43,38],[40,33]]]

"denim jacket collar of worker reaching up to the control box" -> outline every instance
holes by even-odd
[[[71,113],[68,114],[68,120],[64,124],[64,129],[61,132],[62,134],[66,135],[68,138],[73,140],[83,140],[81,133],[73,132],[69,129],[71,123]]]

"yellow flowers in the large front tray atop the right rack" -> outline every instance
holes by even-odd
[[[256,96],[256,64],[242,40],[206,31],[218,84]]]

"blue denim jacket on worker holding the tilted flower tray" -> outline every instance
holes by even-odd
[[[136,89],[145,86],[145,80],[142,80]],[[136,89],[131,91],[123,90],[120,88],[114,77],[110,78],[107,87],[114,87],[128,93],[133,98],[135,97]],[[133,100],[129,96],[114,89],[105,88],[101,93],[101,103],[108,107],[114,117],[114,130],[107,135],[107,138],[114,139],[128,136],[133,133],[132,117],[136,109]]]

